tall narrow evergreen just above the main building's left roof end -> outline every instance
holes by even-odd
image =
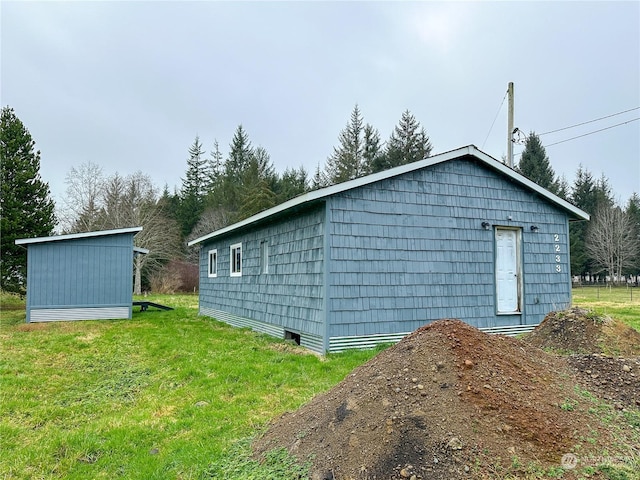
[[[180,227],[183,236],[189,235],[193,227],[198,223],[200,215],[204,211],[204,200],[209,180],[207,172],[207,160],[204,158],[200,138],[196,138],[189,147],[189,159],[187,160],[187,172],[182,179],[180,190]]]

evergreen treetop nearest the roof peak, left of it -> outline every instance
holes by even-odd
[[[386,158],[376,164],[373,171],[417,162],[430,156],[431,149],[431,141],[424,128],[409,110],[405,110],[387,142]]]

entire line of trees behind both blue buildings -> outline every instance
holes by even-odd
[[[188,240],[308,191],[422,160],[432,151],[429,136],[409,110],[401,114],[383,141],[380,132],[364,121],[356,104],[338,134],[337,145],[313,176],[302,166],[278,173],[268,151],[253,146],[247,131],[238,125],[226,155],[217,140],[207,152],[195,136],[187,149],[185,174],[173,191],[168,185],[159,189],[143,172],[105,174],[102,167],[87,162],[68,172],[65,197],[56,209],[48,184],[40,178],[40,152],[10,107],[2,109],[0,141],[1,288],[17,292],[24,292],[26,252],[15,246],[16,238],[47,236],[56,226],[60,233],[142,226],[135,242],[150,253],[136,256],[136,293],[144,288],[171,290],[186,283],[185,271],[197,276],[197,270],[186,268],[197,263],[197,251],[186,248]],[[570,186],[566,179],[556,177],[533,132],[516,170],[593,215],[590,223],[573,222],[570,226],[573,275],[640,273],[637,194],[620,207],[606,177],[594,179],[582,167]],[[601,233],[603,229],[609,236]],[[619,231],[615,241],[610,238],[614,231]],[[626,249],[611,252],[608,245],[615,242]]]

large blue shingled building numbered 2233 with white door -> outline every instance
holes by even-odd
[[[441,318],[517,333],[571,304],[589,215],[463,147],[316,190],[197,238],[200,314],[320,353]]]

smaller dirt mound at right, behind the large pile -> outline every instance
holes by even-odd
[[[583,308],[549,313],[524,340],[562,354],[640,355],[640,332]]]

